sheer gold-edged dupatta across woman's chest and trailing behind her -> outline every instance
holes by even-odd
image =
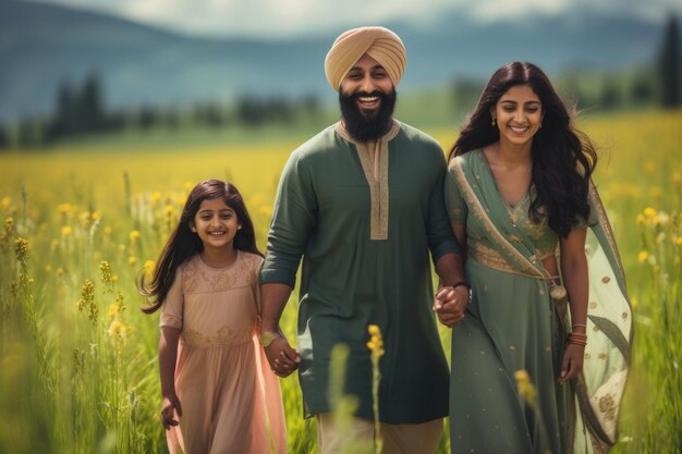
[[[531,278],[552,280],[541,266],[533,240],[512,222],[501,205],[499,194],[491,194],[490,185],[479,184],[489,169],[472,157],[451,161],[456,183],[467,201],[470,216],[482,222],[495,244],[487,249],[484,265]],[[489,175],[491,177],[491,175]],[[606,453],[618,441],[618,416],[622,401],[632,348],[632,310],[626,296],[625,279],[613,241],[611,228],[597,189],[589,184],[590,209],[596,223],[587,229],[585,254],[588,265],[589,298],[587,312],[588,341],[585,347],[584,368],[575,382],[574,417],[569,421],[567,452]],[[470,250],[474,257],[477,251]],[[478,257],[476,257],[478,259]],[[482,260],[479,260],[482,261]],[[555,287],[552,298],[562,307],[564,330],[570,329],[565,297]]]

